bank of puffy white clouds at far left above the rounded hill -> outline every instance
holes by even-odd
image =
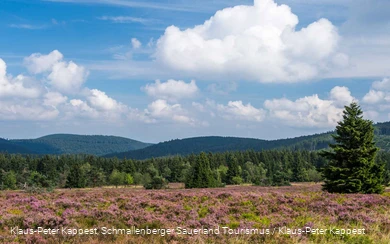
[[[1,117],[35,121],[88,118],[120,123],[129,113],[137,112],[103,91],[84,87],[88,71],[62,59],[57,50],[47,55],[32,54],[24,63],[33,76],[15,78],[7,75],[6,64],[0,59]]]

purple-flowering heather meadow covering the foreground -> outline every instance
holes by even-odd
[[[2,243],[390,243],[390,192],[330,194],[314,183],[2,191],[0,227]]]

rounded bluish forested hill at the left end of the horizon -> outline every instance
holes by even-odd
[[[150,145],[117,136],[54,134],[37,139],[1,139],[0,151],[22,154],[92,154],[101,156],[137,150]]]

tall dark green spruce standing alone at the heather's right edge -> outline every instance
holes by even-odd
[[[360,106],[353,102],[345,106],[343,120],[333,135],[335,144],[322,156],[329,160],[323,170],[323,189],[337,193],[381,193],[384,188],[383,165],[375,163],[379,150],[374,142],[374,127],[363,119]]]

